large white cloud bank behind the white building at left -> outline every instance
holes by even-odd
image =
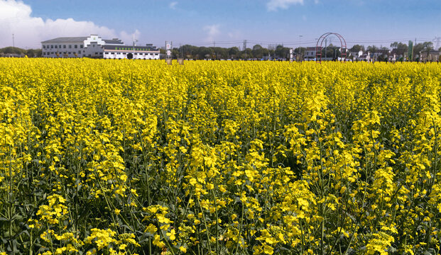
[[[32,8],[22,1],[0,0],[0,47],[12,45],[14,34],[16,47],[41,47],[40,42],[58,37],[88,36],[97,34],[103,39],[121,38],[131,43],[132,35],[98,26],[92,21],[75,21],[72,18],[55,20],[31,16]],[[139,36],[139,31],[135,32]]]

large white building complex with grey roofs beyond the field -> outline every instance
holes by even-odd
[[[55,38],[41,42],[43,57],[92,57],[106,59],[158,60],[159,50],[153,45],[124,45],[118,38],[88,37]]]

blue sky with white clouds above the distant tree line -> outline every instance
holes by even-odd
[[[389,46],[441,37],[441,0],[0,0],[0,47],[97,33],[138,45],[313,45],[326,32]],[[301,40],[299,35],[302,35]],[[337,42],[334,39],[333,42]],[[436,45],[436,43],[435,43]],[[441,47],[441,45],[439,45]]]

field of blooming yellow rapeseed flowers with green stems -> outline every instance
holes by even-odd
[[[440,254],[439,64],[0,70],[0,254]]]

